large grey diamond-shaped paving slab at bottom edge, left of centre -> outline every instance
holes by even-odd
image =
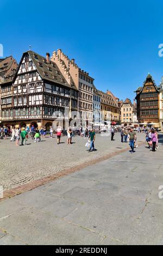
[[[0,227],[28,245],[96,245],[104,236],[55,218],[40,210],[23,209],[4,220]],[[1,241],[1,239],[0,239]]]

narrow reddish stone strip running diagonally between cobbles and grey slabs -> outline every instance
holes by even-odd
[[[138,144],[139,145],[142,145],[144,144],[145,142],[139,142]],[[42,179],[39,179],[39,180],[35,180],[35,181],[32,181],[32,182],[29,182],[27,184],[23,184],[21,186],[18,186],[18,187],[15,187],[15,188],[12,188],[11,190],[8,190],[8,191],[4,191],[3,193],[3,198],[0,199],[0,202],[2,200],[5,200],[7,198],[11,198],[11,197],[15,197],[17,196],[18,194],[21,194],[23,192],[26,192],[26,191],[30,191],[30,190],[33,190],[34,188],[36,187],[39,187],[39,186],[42,186],[42,185],[45,185],[47,184],[48,182],[51,182],[51,181],[54,181],[56,179],[59,179],[61,177],[64,177],[68,174],[71,174],[71,173],[74,173],[74,172],[77,172],[78,170],[80,169],[83,169],[87,166],[91,166],[93,164],[96,164],[98,162],[102,162],[104,160],[108,160],[110,159],[111,157],[113,156],[116,156],[120,153],[123,153],[123,152],[126,152],[128,151],[130,148],[125,148],[125,149],[121,149],[121,150],[118,150],[118,151],[115,151],[114,153],[111,153],[111,154],[107,154],[105,156],[102,156],[102,157],[99,157],[98,159],[95,159],[95,160],[91,160],[91,161],[87,161],[83,164],[79,164],[78,166],[75,166],[75,167],[71,167],[71,168],[68,168],[68,169],[65,169],[65,170],[62,170],[61,172],[58,172],[58,173],[55,173],[55,174],[52,174],[52,175],[48,175]]]

